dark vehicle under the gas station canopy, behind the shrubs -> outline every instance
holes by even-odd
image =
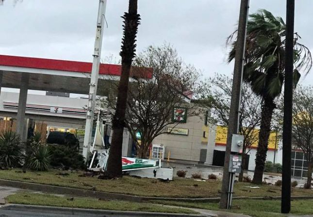
[[[47,138],[48,144],[66,145],[68,148],[79,150],[79,140],[74,134],[68,132],[53,131]]]

